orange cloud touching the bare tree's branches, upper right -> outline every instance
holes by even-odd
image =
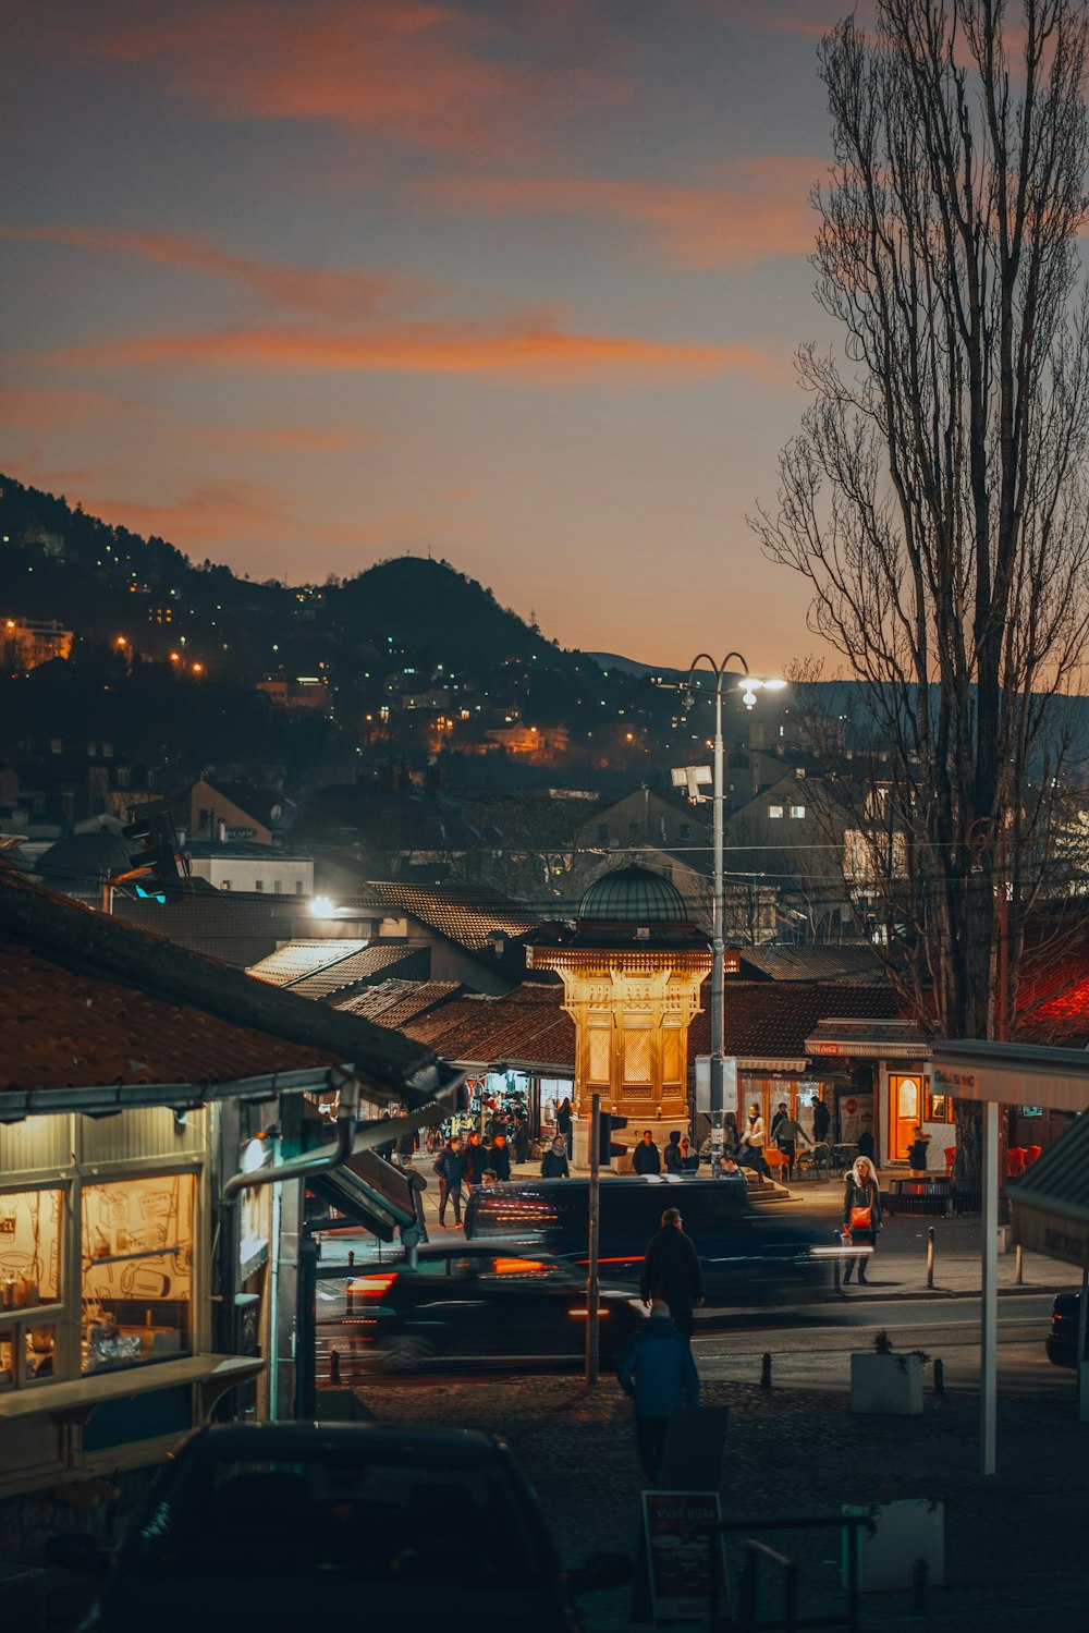
[[[421,181],[416,193],[449,211],[637,222],[650,227],[655,243],[671,260],[691,271],[707,271],[808,255],[816,227],[808,194],[820,175],[818,160],[769,155],[730,165],[725,185],[718,186],[673,188],[581,176],[459,176]]]

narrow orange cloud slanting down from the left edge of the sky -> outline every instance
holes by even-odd
[[[0,238],[137,255],[163,266],[232,278],[266,300],[320,317],[369,317],[393,294],[418,296],[424,287],[421,283],[374,278],[367,273],[268,265],[248,255],[229,255],[202,238],[181,238],[165,232],[0,225]]]

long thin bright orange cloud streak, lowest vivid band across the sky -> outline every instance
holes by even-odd
[[[679,346],[612,335],[570,335],[545,322],[509,328],[405,323],[369,333],[320,328],[232,328],[196,335],[147,335],[52,353],[75,366],[224,364],[331,372],[490,374],[549,379],[638,369],[661,376],[745,369],[759,377],[782,371],[758,346]]]

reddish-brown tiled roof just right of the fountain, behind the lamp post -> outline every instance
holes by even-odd
[[[710,981],[689,1029],[689,1057],[710,1053]],[[805,1040],[826,1016],[888,1021],[900,1014],[888,985],[727,981],[723,1047],[738,1060],[803,1060]]]

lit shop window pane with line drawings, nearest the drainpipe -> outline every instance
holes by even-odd
[[[193,1174],[83,1187],[82,1370],[193,1347]]]

